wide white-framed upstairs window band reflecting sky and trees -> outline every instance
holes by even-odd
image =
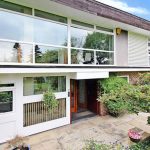
[[[30,11],[27,7],[22,9]],[[36,9],[34,12],[35,17],[29,17],[0,11],[0,62],[114,64],[112,29],[75,20],[68,28],[65,17]]]

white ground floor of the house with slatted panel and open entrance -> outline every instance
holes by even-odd
[[[0,143],[15,135],[27,136],[71,124],[81,118],[102,115],[97,101],[97,81],[110,73],[22,73],[0,75]],[[138,72],[118,72],[134,83]],[[48,112],[43,92],[51,88],[58,99]],[[7,131],[7,132],[6,132]]]

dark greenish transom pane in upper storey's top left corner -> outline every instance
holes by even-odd
[[[14,3],[10,3],[10,2],[4,1],[4,0],[0,0],[0,8],[9,9],[12,11],[32,15],[32,9],[31,8],[21,6],[18,4],[14,4]]]

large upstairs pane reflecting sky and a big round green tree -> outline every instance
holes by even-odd
[[[113,51],[113,43],[113,35],[71,28],[72,47]]]

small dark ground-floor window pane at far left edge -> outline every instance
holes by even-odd
[[[0,113],[12,111],[13,92],[0,92]]]

